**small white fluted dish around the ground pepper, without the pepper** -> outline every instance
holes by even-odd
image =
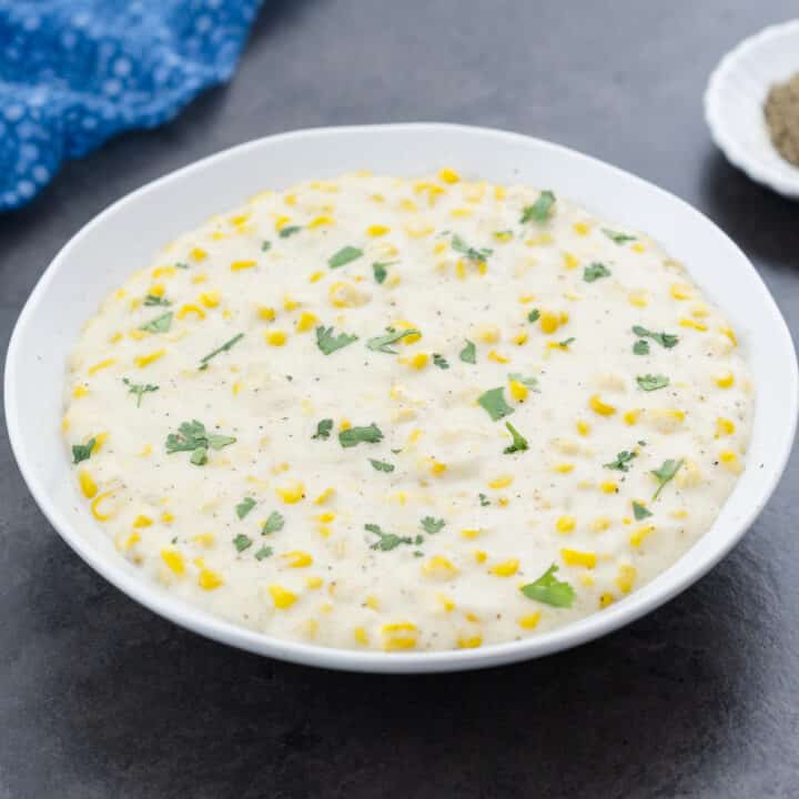
[[[730,163],[758,183],[799,199],[799,166],[769,138],[762,105],[772,83],[799,72],[799,20],[771,26],[730,50],[705,91],[705,119]]]

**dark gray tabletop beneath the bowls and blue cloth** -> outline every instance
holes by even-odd
[[[231,87],[0,218],[3,351],[57,250],[131,189],[266,133],[419,119],[552,139],[676,192],[799,325],[799,205],[728,166],[701,117],[721,53],[793,2],[266,4]],[[0,436],[0,799],[799,796],[796,458],[744,543],[650,617],[535,663],[398,678],[260,659],[138,607],[61,543]]]

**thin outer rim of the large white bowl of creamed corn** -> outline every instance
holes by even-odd
[[[47,295],[48,287],[61,265],[68,261],[71,251],[77,247],[80,241],[89,235],[94,229],[101,226],[104,221],[128,201],[140,198],[149,192],[156,191],[160,186],[170,182],[182,180],[184,176],[205,169],[213,162],[224,161],[230,158],[240,158],[247,152],[256,150],[266,143],[275,143],[285,139],[314,139],[326,136],[341,136],[350,134],[382,133],[382,132],[411,132],[411,131],[442,131],[444,133],[479,134],[493,138],[499,145],[502,143],[518,142],[535,144],[544,152],[558,153],[575,159],[584,164],[599,165],[608,171],[613,178],[624,178],[633,181],[646,191],[655,192],[682,208],[682,211],[699,218],[704,224],[710,225],[718,235],[726,240],[726,244],[735,249],[741,256],[741,267],[750,271],[763,300],[770,304],[773,323],[780,331],[786,354],[787,374],[785,375],[785,394],[791,398],[791,423],[790,429],[786,431],[782,438],[781,449],[775,454],[772,461],[771,478],[760,490],[757,502],[752,503],[745,513],[731,526],[730,532],[721,538],[714,548],[702,550],[701,557],[695,558],[690,566],[675,570],[680,560],[661,573],[653,581],[630,594],[620,601],[604,609],[601,614],[593,614],[583,619],[574,621],[565,627],[557,628],[540,637],[526,638],[517,641],[493,644],[476,649],[436,650],[423,653],[380,653],[361,651],[355,649],[337,649],[322,647],[313,644],[274,638],[263,633],[257,633],[245,627],[236,626],[224,621],[211,614],[201,610],[184,600],[160,589],[149,580],[139,576],[128,574],[118,566],[113,558],[107,558],[102,553],[92,548],[88,538],[84,538],[79,530],[62,514],[59,505],[49,496],[44,486],[40,484],[32,462],[29,459],[28,451],[21,433],[20,402],[17,392],[13,390],[14,375],[20,368],[21,338],[26,328],[36,323],[37,310]],[[788,357],[790,356],[790,357]],[[788,363],[788,361],[790,363]],[[4,371],[4,408],[11,448],[17,459],[20,473],[31,492],[37,505],[44,514],[61,538],[79,555],[91,568],[104,577],[109,583],[127,594],[153,613],[171,620],[172,623],[198,633],[206,638],[234,646],[257,655],[274,657],[295,664],[324,667],[345,671],[360,672],[384,672],[384,674],[412,674],[412,672],[442,672],[458,671],[465,669],[478,669],[498,666],[503,664],[517,663],[543,657],[556,651],[565,650],[600,636],[616,630],[641,616],[655,610],[688,586],[701,578],[711,569],[745,535],[751,523],[761,512],[769,497],[777,487],[779,479],[786,468],[792,449],[793,437],[797,427],[797,408],[799,406],[799,371],[797,370],[796,350],[789,328],[780,313],[773,297],[766,287],[762,279],[755,270],[751,262],[740,249],[721,231],[712,221],[700,211],[692,208],[680,198],[667,192],[649,181],[619,169],[599,159],[586,155],[569,148],[548,142],[535,136],[522,133],[504,131],[490,128],[474,125],[462,125],[439,122],[409,122],[388,124],[363,124],[343,125],[330,128],[313,128],[305,130],[289,131],[274,135],[254,139],[242,144],[225,149],[211,154],[173,172],[170,172],[154,181],[151,181],[139,189],[125,194],[109,205],[85,225],[83,225],[58,252],[47,270],[42,273],[33,291],[28,297],[14,325],[6,360]],[[696,546],[696,545],[695,545]],[[669,577],[670,576],[670,577]]]

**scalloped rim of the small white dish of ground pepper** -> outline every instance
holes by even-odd
[[[729,79],[735,65],[740,60],[754,55],[762,47],[768,47],[776,39],[783,37],[796,37],[797,42],[799,42],[799,19],[768,26],[761,31],[742,39],[726,52],[710,73],[705,88],[702,105],[705,121],[710,129],[712,140],[734,166],[737,166],[757,183],[769,186],[783,196],[799,200],[799,168],[797,168],[796,176],[792,180],[788,179],[783,174],[771,170],[747,148],[742,146],[727,123],[720,100],[721,89]]]

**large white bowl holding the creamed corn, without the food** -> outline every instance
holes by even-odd
[[[83,321],[175,234],[264,188],[356,169],[414,175],[442,164],[497,183],[547,186],[626,229],[648,232],[728,314],[759,392],[747,469],[712,528],[657,579],[601,613],[523,641],[458,651],[361,653],[279,640],[209,616],[143,579],[79,497],[59,429],[65,360]],[[358,671],[447,671],[539,657],[601,636],[658,607],[718,563],[763,507],[787,462],[797,422],[797,363],[788,328],[744,253],[661,189],[516,133],[445,124],[332,128],[226,150],[139,189],[90,222],[55,256],[20,315],[6,364],[6,416],[22,475],[53,527],[92,568],[161,616],[284,660]]]

